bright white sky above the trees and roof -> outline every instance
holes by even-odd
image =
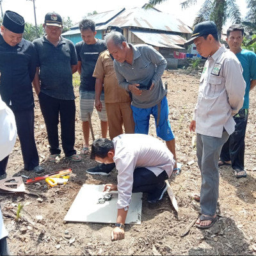
[[[33,0],[0,0],[2,4],[3,13],[6,10],[12,10],[22,15],[26,22],[35,24]],[[182,10],[180,3],[184,0],[167,0],[162,4],[158,4],[156,8],[164,13],[175,15],[188,26],[193,25],[193,20],[196,13],[202,6],[205,0],[197,0],[197,3],[187,10]],[[241,8],[242,16],[246,14],[246,0],[236,0]],[[36,22],[37,24],[44,23],[44,16],[47,12],[57,12],[61,17],[70,17],[75,24],[79,22],[87,13],[96,11],[107,12],[110,10],[117,10],[120,8],[135,8],[142,7],[147,0],[35,0],[36,6]],[[230,23],[229,23],[230,24]]]

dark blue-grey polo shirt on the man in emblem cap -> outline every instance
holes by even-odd
[[[45,36],[33,41],[37,53],[36,67],[40,68],[41,92],[62,100],[74,100],[72,65],[77,65],[74,44],[61,36],[57,46]]]

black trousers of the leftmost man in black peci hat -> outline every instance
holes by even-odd
[[[39,157],[36,149],[34,136],[34,109],[13,110],[15,116],[17,133],[24,161],[25,170],[33,170],[39,165]],[[0,174],[5,173],[8,157],[0,161]]]

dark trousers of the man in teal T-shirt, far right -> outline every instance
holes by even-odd
[[[236,122],[235,131],[229,136],[228,141],[223,145],[220,159],[231,161],[234,170],[244,170],[244,138],[248,120],[248,109],[240,109],[234,116]]]

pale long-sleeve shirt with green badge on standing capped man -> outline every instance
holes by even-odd
[[[193,120],[196,132],[221,138],[223,127],[232,134],[232,118],[243,106],[245,82],[243,68],[236,55],[223,45],[205,62],[200,78]]]

